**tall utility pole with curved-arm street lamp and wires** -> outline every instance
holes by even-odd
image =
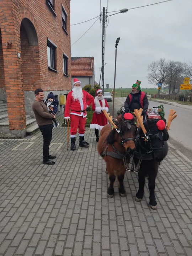
[[[111,14],[111,15],[106,15],[105,16],[105,7],[103,7],[103,15],[102,15],[102,70],[101,70],[101,89],[104,92],[104,63],[105,63],[105,23],[107,17],[110,17],[112,15],[116,15],[119,13],[126,13],[128,12],[128,9],[124,8],[121,9],[120,11],[116,12],[115,14]]]

